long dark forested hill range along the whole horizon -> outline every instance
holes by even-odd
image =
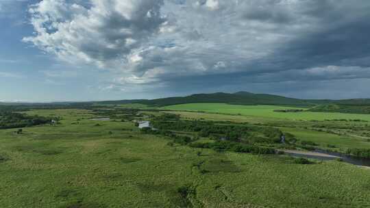
[[[254,94],[251,92],[210,94],[192,94],[189,96],[175,96],[163,99],[136,99],[121,101],[92,101],[92,102],[55,102],[55,103],[1,103],[0,110],[20,111],[26,109],[57,109],[57,108],[89,108],[94,104],[120,105],[138,103],[149,107],[163,107],[186,103],[227,103],[234,105],[282,105],[291,107],[310,107],[311,112],[341,112],[354,114],[370,114],[370,99],[294,99],[275,94]]]

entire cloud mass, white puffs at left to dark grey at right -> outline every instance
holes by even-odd
[[[370,79],[367,0],[79,2],[32,5],[24,40],[114,70],[104,90]]]

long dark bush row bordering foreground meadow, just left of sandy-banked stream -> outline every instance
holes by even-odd
[[[275,154],[274,148],[254,146],[250,144],[242,144],[238,142],[207,142],[207,143],[191,143],[189,146],[194,148],[212,148],[214,151],[232,151],[236,153],[254,153],[254,154]]]

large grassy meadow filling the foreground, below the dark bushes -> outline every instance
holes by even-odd
[[[350,164],[168,146],[86,110],[29,114],[63,119],[0,131],[1,207],[370,206],[370,171]]]

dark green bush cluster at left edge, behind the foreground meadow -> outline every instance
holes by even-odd
[[[58,118],[54,118],[56,120]],[[0,112],[0,129],[32,127],[51,123],[53,118],[42,116],[28,116],[26,114]]]

